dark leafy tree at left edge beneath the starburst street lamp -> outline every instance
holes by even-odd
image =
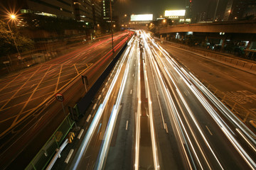
[[[12,33],[20,52],[33,48],[33,41],[31,39],[19,35],[16,29]],[[11,37],[11,31],[7,24],[0,20],[0,57],[17,53],[14,39]]]

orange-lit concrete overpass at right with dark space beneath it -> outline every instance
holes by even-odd
[[[164,40],[176,38],[182,40],[186,35],[194,35],[201,41],[225,47],[233,42],[246,50],[256,50],[256,21],[227,21],[214,23],[193,23],[167,26],[159,29]]]

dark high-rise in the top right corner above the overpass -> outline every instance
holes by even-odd
[[[229,0],[225,8],[223,21],[245,20],[249,16],[255,18],[255,0]]]

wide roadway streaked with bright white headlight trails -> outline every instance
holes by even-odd
[[[255,134],[144,31],[99,98],[70,169],[256,169]]]

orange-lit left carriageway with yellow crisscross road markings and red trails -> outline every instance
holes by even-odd
[[[124,45],[128,34],[125,31],[114,34],[114,51]],[[68,106],[75,106],[85,94],[81,75],[87,76],[90,89],[114,55],[111,35],[106,35],[63,56],[1,77],[1,166],[18,157],[17,164],[26,167],[62,122]],[[65,113],[60,103],[54,101],[58,92],[65,95]],[[41,132],[46,126],[47,130]],[[29,149],[24,149],[32,141]],[[22,160],[24,153],[19,155],[21,152],[30,153],[26,162]]]

